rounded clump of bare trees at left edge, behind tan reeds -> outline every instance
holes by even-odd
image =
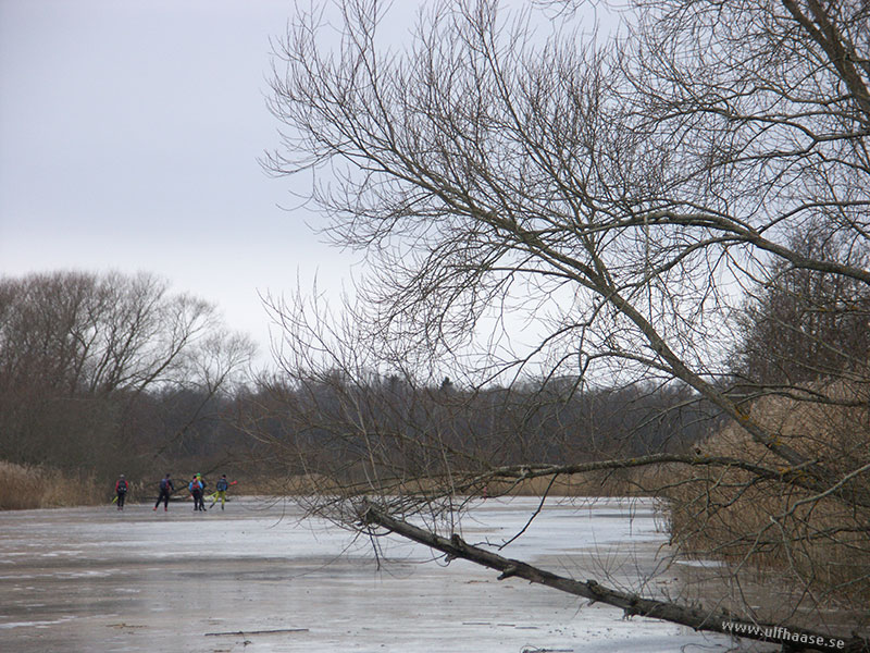
[[[144,453],[128,419],[142,393],[196,390],[207,402],[252,350],[215,307],[149,274],[0,280],[0,458],[129,469]]]

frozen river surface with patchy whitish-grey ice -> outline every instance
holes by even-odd
[[[501,543],[536,500],[481,503],[470,542]],[[300,521],[293,503],[236,500],[196,514],[162,507],[0,513],[0,651],[246,653],[283,651],[725,651],[705,637],[509,579],[421,545],[368,540]],[[548,501],[502,555],[614,582],[656,566],[664,534],[652,506]],[[594,565],[597,565],[595,563]],[[581,568],[585,565],[585,568]],[[586,576],[588,575],[588,576]],[[649,586],[676,583],[661,570]],[[660,584],[656,584],[660,583]],[[676,589],[676,588],[672,588]]]

